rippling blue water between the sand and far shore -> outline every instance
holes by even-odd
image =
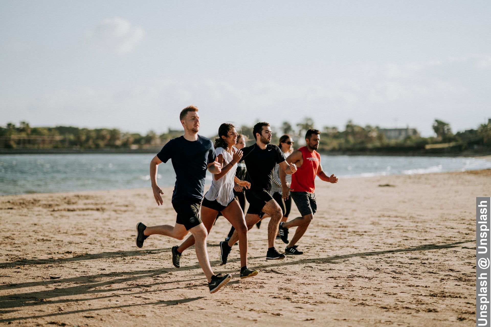
[[[0,195],[150,187],[154,154],[0,155]],[[491,168],[477,158],[322,156],[327,174],[340,178],[459,172]],[[170,161],[159,165],[158,183],[173,186]],[[208,176],[211,183],[211,176]]]

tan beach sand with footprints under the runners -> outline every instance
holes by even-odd
[[[475,198],[491,170],[317,181],[305,254],[266,261],[267,223],[219,265],[220,217],[208,238],[209,294],[194,248],[178,240],[136,248],[136,223],[174,224],[171,189],[0,197],[0,322],[25,326],[475,326]],[[383,185],[383,186],[382,186]],[[290,218],[298,215],[294,206]],[[291,230],[293,232],[293,228]],[[292,234],[291,234],[292,235]],[[285,245],[276,240],[276,248]]]

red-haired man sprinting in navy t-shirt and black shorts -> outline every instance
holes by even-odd
[[[181,111],[181,124],[184,135],[172,139],[150,162],[150,179],[158,205],[163,204],[161,188],[157,185],[157,168],[162,162],[172,161],[176,172],[176,183],[172,193],[172,206],[177,213],[176,224],[161,226],[136,225],[136,246],[141,248],[145,239],[153,234],[166,235],[182,240],[188,231],[194,236],[195,250],[199,264],[208,279],[210,293],[215,293],[230,281],[232,275],[215,276],[210,266],[206,249],[208,232],[199,218],[199,208],[203,199],[205,176],[208,170],[212,174],[221,172],[213,143],[210,139],[198,135],[198,108],[189,106]],[[172,249],[174,251],[174,249]],[[177,254],[177,253],[176,253]]]

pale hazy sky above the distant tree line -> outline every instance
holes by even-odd
[[[0,126],[491,118],[491,1],[0,1]]]

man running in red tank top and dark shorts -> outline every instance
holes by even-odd
[[[285,248],[286,254],[303,254],[295,245],[300,237],[303,236],[310,222],[314,218],[317,210],[315,201],[315,176],[319,176],[321,180],[336,183],[337,177],[333,175],[327,176],[322,170],[321,156],[316,151],[319,148],[320,134],[317,129],[309,129],[305,134],[306,146],[293,151],[286,158],[287,163],[297,165],[297,172],[292,175],[292,184],[290,188],[286,186],[285,174],[280,171],[281,184],[283,186],[283,198],[288,199],[291,195],[293,201],[300,211],[301,217],[297,217],[289,222],[279,225],[279,235],[284,243],[288,244],[288,228],[297,227],[290,244]]]

